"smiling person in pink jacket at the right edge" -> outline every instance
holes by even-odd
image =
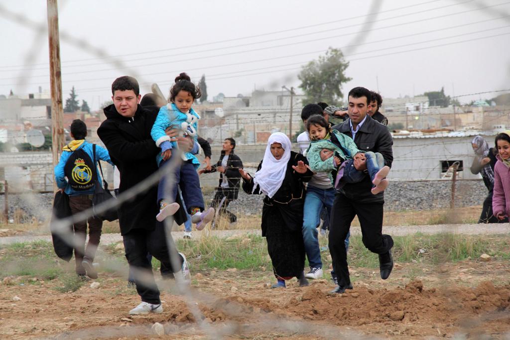
[[[510,130],[496,136],[498,161],[494,166],[494,195],[492,211],[494,216],[503,220],[510,215]]]

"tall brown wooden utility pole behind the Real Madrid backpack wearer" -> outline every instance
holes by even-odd
[[[62,110],[62,77],[60,71],[59,14],[57,0],[46,0],[48,14],[49,80],[52,91],[52,155],[53,167],[59,162],[64,146],[64,113]],[[57,184],[53,184],[57,191]]]

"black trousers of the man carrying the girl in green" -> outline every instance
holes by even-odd
[[[328,242],[333,259],[333,270],[338,276],[339,285],[350,284],[344,241],[354,216],[358,215],[363,235],[362,241],[368,250],[376,254],[384,254],[393,247],[391,236],[382,234],[383,205],[384,201],[364,203],[355,198],[347,198],[342,193],[336,194],[333,209],[331,209]]]

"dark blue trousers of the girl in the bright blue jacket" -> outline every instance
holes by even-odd
[[[160,167],[166,166],[166,163],[170,162],[172,158],[161,161]],[[158,204],[163,200],[168,200],[168,203],[175,202],[177,198],[177,186],[181,188],[183,195],[183,203],[186,204],[187,212],[190,213],[192,207],[200,208],[203,211],[205,205],[203,204],[202,190],[200,189],[200,179],[196,172],[195,166],[189,162],[183,162],[180,166],[175,168],[173,173],[175,183],[171,187],[169,193],[165,193],[165,182],[167,174],[163,176],[158,185]]]

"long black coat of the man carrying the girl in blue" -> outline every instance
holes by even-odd
[[[113,104],[106,107],[104,112],[107,119],[97,129],[97,135],[119,169],[119,192],[122,193],[158,171],[156,155],[160,148],[150,137],[150,130],[159,108],[138,105],[133,118],[121,116]],[[159,212],[157,195],[158,182],[119,207],[121,234],[133,229],[155,229]]]

